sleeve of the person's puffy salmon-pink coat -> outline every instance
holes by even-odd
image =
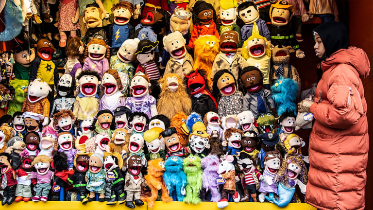
[[[346,129],[357,123],[364,111],[357,89],[359,78],[355,71],[347,64],[340,64],[333,70],[328,79],[330,85],[327,99],[330,103],[311,105],[315,120],[327,127],[337,129]]]

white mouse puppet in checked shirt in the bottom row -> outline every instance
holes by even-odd
[[[221,192],[221,200],[217,203],[219,209],[224,209],[229,205],[228,196],[231,196],[235,203],[238,203],[241,198],[239,193],[236,191],[236,172],[235,165],[232,163],[233,161],[234,157],[230,155],[225,156],[225,159],[220,159],[218,174],[220,181],[223,180],[222,182],[224,183],[224,186]]]

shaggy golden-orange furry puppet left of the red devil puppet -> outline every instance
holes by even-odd
[[[157,102],[158,114],[163,114],[170,120],[177,112],[190,114],[192,101],[179,75],[168,73],[158,80],[158,84],[161,87]]]

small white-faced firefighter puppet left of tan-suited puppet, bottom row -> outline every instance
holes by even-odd
[[[124,196],[124,177],[121,172],[123,166],[123,158],[119,153],[104,153],[103,168],[107,174],[107,181],[110,183],[111,192],[110,199],[106,201],[106,205],[123,204],[126,200]],[[130,169],[131,170],[131,169]]]

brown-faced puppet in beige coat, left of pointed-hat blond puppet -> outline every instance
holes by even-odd
[[[240,70],[249,66],[245,59],[237,54],[239,37],[235,31],[225,31],[220,35],[220,53],[216,55],[212,65],[210,78],[221,69],[227,69],[234,78],[238,78]]]

